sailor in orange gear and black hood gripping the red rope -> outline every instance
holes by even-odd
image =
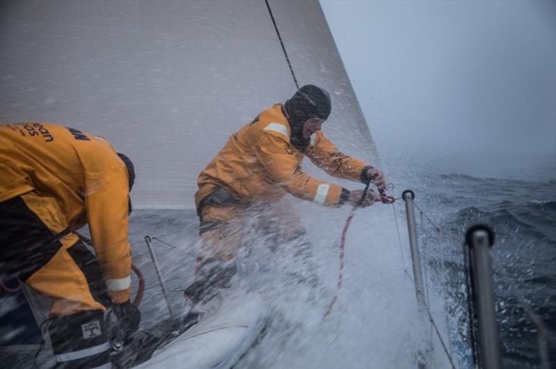
[[[305,85],[286,104],[275,104],[231,135],[218,155],[199,174],[195,194],[202,250],[197,277],[186,290],[196,304],[217,284],[227,286],[235,274],[232,261],[241,245],[245,211],[257,202],[279,199],[286,192],[324,206],[357,204],[363,190],[348,191],[309,177],[304,156],[334,177],[374,181],[385,188],[384,175],[341,153],[322,131],[331,111],[328,92]],[[368,192],[361,206],[373,204]]]

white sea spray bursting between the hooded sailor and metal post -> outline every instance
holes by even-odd
[[[252,368],[415,366],[425,332],[420,328],[413,284],[402,268],[391,206],[376,204],[361,209],[354,218],[346,240],[343,289],[325,322],[322,313],[336,287],[343,227],[338,220],[345,220],[349,209],[312,204],[296,209],[319,265],[318,298],[307,300],[302,284],[282,286],[272,300],[275,324],[240,364]],[[282,256],[286,262],[295,257],[293,253]],[[441,357],[430,358],[433,362],[443,363]]]

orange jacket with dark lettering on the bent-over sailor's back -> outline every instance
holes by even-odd
[[[46,210],[70,229],[88,222],[113,301],[129,300],[129,182],[110,143],[55,124],[0,124],[0,202],[30,191],[56,199]]]

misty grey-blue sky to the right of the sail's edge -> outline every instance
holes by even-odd
[[[320,3],[390,163],[556,158],[555,1]]]

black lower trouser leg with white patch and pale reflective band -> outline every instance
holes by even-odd
[[[56,368],[111,368],[103,311],[55,317],[49,336]]]

